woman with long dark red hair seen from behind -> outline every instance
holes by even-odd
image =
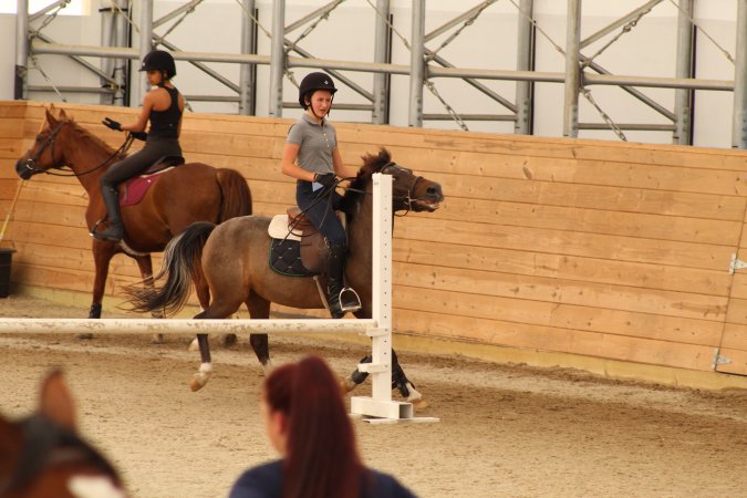
[[[267,434],[283,458],[245,471],[230,498],[414,498],[361,463],[340,386],[322,360],[276,369],[263,391]]]

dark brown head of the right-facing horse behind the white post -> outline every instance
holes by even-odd
[[[374,173],[392,176],[392,199],[395,211],[435,211],[444,200],[440,185],[422,176],[416,176],[412,169],[400,166],[392,160],[392,155],[382,148],[377,155],[363,156],[363,167],[355,184],[364,181]],[[360,187],[360,185],[359,185]]]

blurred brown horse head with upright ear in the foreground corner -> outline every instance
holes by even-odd
[[[0,496],[127,497],[114,467],[77,435],[60,371],[44,381],[38,413],[18,422],[0,416]]]

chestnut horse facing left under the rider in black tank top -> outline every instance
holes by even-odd
[[[98,179],[118,158],[118,151],[82,128],[64,111],[60,112],[59,118],[46,111],[45,126],[34,145],[15,164],[15,172],[23,179],[40,173],[76,177],[89,194],[85,221],[91,228],[106,212]],[[72,173],[59,172],[63,167]],[[123,188],[121,185],[121,191]],[[249,186],[235,169],[189,163],[158,174],[139,203],[122,208],[123,243],[93,240],[96,274],[89,318],[101,318],[108,264],[114,255],[124,252],[134,258],[143,280],[148,282],[153,274],[151,252],[163,251],[172,237],[185,227],[195,221],[220,224],[250,214]],[[197,286],[197,289],[200,304],[207,308],[210,300],[207,287]]]

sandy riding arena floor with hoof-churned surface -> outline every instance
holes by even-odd
[[[85,318],[37,298],[0,300],[2,317]],[[116,315],[111,311],[108,318]],[[122,315],[122,313],[120,314]],[[83,434],[134,497],[221,497],[272,459],[258,411],[261,377],[247,342],[214,347],[200,392],[190,338],[0,336],[0,411],[30,413],[40,378],[64,367]],[[363,347],[271,338],[276,364],[315,353],[340,375]],[[564,369],[402,353],[434,424],[354,419],[364,460],[421,497],[747,497],[747,393],[613,382]],[[355,394],[370,394],[366,383]],[[397,396],[395,396],[397,397]]]

